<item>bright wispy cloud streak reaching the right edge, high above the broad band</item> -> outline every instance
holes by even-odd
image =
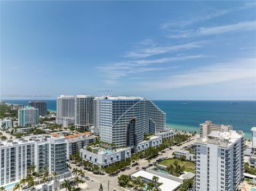
[[[225,26],[213,26],[213,27],[201,27],[196,31],[190,32],[181,32],[179,34],[169,35],[170,38],[187,38],[187,37],[198,37],[206,35],[217,35],[223,34],[226,32],[235,32],[235,31],[246,31],[246,30],[255,30],[256,21],[244,21],[238,22],[236,24],[227,24]]]

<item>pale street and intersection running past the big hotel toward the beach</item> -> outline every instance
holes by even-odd
[[[189,144],[193,144],[195,142],[195,138],[190,140],[189,142],[182,144],[180,146],[173,146],[172,150],[167,151],[165,153],[162,153],[163,155],[158,155],[157,157],[155,157],[155,159],[151,159],[151,162],[155,162],[157,159],[160,159],[163,156],[166,157],[172,157],[172,153],[175,151],[180,150],[182,147],[187,146]],[[146,159],[142,159],[138,161],[139,165],[138,167],[141,168],[142,167],[147,167],[148,165],[148,161]],[[78,168],[76,165],[71,164],[72,168]],[[125,170],[123,172],[120,172],[117,176],[113,176],[110,177],[109,175],[94,175],[92,172],[89,172],[87,170],[84,170],[86,173],[86,176],[88,176],[90,178],[89,181],[86,181],[84,184],[79,185],[79,187],[81,187],[83,190],[90,190],[90,191],[98,191],[100,184],[102,184],[103,190],[105,191],[125,191],[128,189],[122,188],[118,186],[118,177],[121,175],[130,175],[131,173],[134,173],[136,166],[135,167],[131,167],[131,169]],[[109,189],[108,189],[108,182],[109,182]]]

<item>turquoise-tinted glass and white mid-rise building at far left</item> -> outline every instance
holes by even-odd
[[[18,124],[21,127],[25,127],[27,124],[38,124],[39,113],[38,109],[27,106],[21,110],[18,110]]]

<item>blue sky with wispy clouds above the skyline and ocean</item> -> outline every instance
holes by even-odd
[[[254,100],[255,8],[245,1],[1,1],[1,94]]]

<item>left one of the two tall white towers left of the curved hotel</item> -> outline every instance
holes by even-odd
[[[75,122],[75,97],[73,95],[61,95],[57,97],[56,123],[68,127]]]

